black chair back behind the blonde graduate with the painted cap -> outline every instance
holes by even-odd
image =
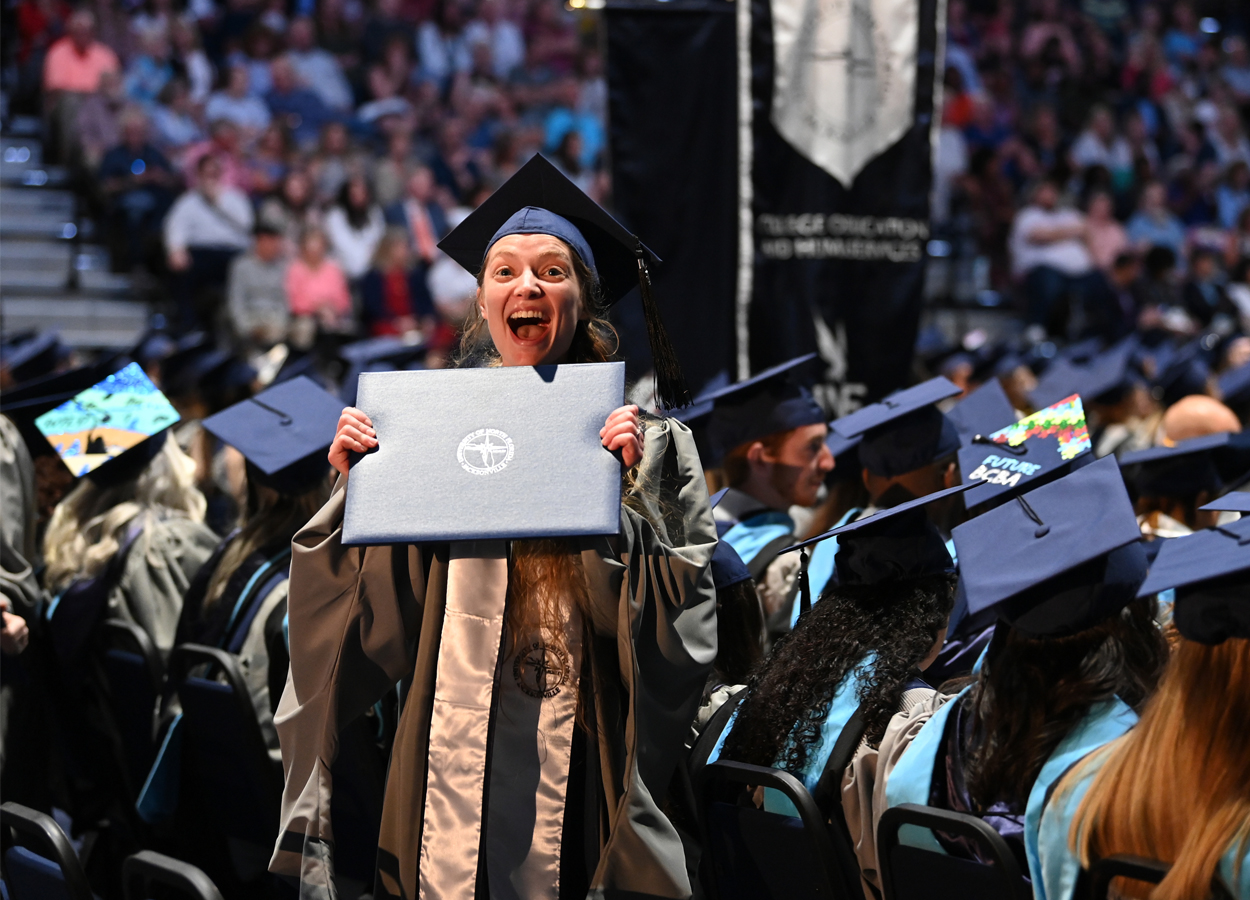
[[[109,619],[100,630],[109,706],[138,792],[156,759],[156,715],[165,670],[156,646],[138,625]]]

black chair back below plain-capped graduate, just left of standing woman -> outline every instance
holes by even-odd
[[[230,838],[272,846],[282,771],[269,755],[238,660],[216,648],[181,644],[170,679],[182,704],[182,785]]]

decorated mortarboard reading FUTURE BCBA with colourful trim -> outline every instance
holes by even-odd
[[[1091,449],[1076,395],[1005,428],[972,435],[959,450],[959,476],[976,485],[964,495],[964,505],[972,509],[1052,481],[1091,459]]]

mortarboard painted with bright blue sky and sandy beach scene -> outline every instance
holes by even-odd
[[[75,476],[104,485],[139,475],[164,445],[178,411],[130,362],[35,418],[35,428]]]

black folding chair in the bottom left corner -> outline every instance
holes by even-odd
[[[70,839],[56,820],[15,802],[0,806],[4,881],[11,900],[92,900]]]

